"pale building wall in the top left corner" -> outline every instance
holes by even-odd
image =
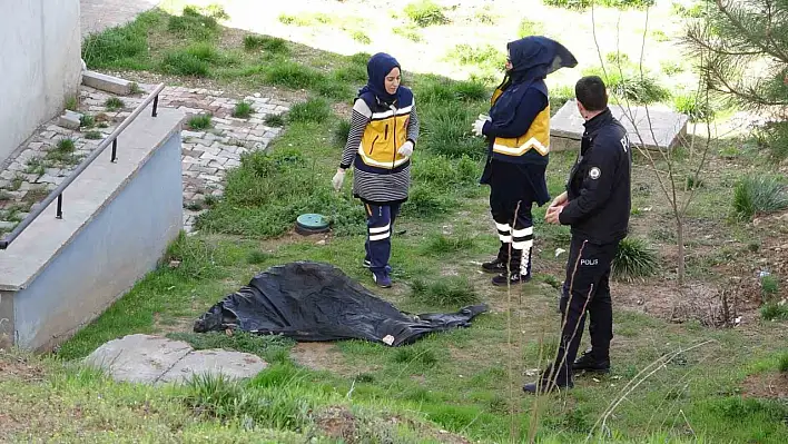
[[[79,0],[9,0],[0,12],[0,162],[76,96]]]

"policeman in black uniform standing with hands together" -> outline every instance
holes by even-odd
[[[627,130],[608,108],[602,79],[583,77],[574,87],[578,110],[585,119],[580,155],[567,191],[550,204],[549,224],[572,227],[567,279],[561,297],[561,341],[555,361],[526,393],[573,386],[573,372],[610,371],[613,312],[610,266],[629,225],[632,154]],[[585,313],[590,315],[591,349],[577,362]]]

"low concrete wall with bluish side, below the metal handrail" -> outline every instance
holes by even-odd
[[[156,267],[183,227],[183,118],[146,111],[119,138],[117,164],[107,149],[66,189],[62,220],[52,203],[0,251],[0,337],[49,349]]]

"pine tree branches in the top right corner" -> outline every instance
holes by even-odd
[[[686,43],[702,80],[743,109],[771,120],[772,152],[788,157],[788,0],[705,0]]]

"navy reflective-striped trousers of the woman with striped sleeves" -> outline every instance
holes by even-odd
[[[388,258],[392,254],[392,233],[394,220],[400,214],[400,204],[372,205],[364,204],[366,210],[366,250],[365,260],[372,264],[370,269],[380,273],[388,269]]]

